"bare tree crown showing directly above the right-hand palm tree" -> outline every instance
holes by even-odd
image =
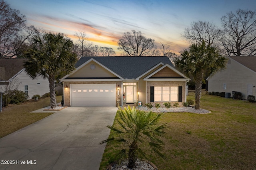
[[[219,29],[210,22],[192,22],[190,28],[186,28],[182,36],[192,43],[216,44]]]

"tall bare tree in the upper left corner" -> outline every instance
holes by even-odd
[[[14,46],[20,46],[17,44],[16,38],[21,35],[20,31],[24,29],[26,29],[26,16],[20,14],[19,10],[13,10],[9,4],[0,0],[0,57],[15,55]],[[22,40],[22,42],[24,41]]]

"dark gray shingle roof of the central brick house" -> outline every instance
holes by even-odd
[[[76,68],[88,61],[95,59],[102,65],[108,67],[124,79],[135,79],[162,62],[174,67],[168,57],[81,57],[76,63]]]

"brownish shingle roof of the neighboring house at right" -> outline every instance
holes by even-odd
[[[256,56],[229,56],[229,57],[256,72]]]

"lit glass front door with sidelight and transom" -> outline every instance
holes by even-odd
[[[124,102],[136,103],[136,83],[124,83]]]

